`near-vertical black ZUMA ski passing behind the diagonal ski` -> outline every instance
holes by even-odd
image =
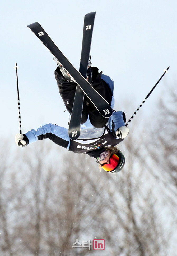
[[[96,12],[90,12],[90,13],[87,13],[84,17],[81,61],[80,61],[80,67],[79,67],[79,72],[84,78],[87,77],[87,68],[88,68],[88,61],[90,57],[90,48],[91,48],[95,15],[96,15]],[[77,85],[71,119],[69,123],[69,129],[68,129],[69,138],[71,140],[77,140],[80,135],[83,99],[84,99],[84,92]]]

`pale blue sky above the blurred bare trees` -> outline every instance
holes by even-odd
[[[92,37],[92,66],[113,78],[117,111],[127,120],[170,66],[142,110],[155,106],[176,81],[176,1],[3,1],[1,3],[1,134],[18,133],[15,62],[18,70],[22,133],[43,123],[68,127],[68,114],[54,78],[52,54],[27,25],[39,22],[78,69],[84,16],[97,11]],[[132,105],[132,109],[131,106]],[[137,118],[137,116],[136,116]],[[129,128],[131,129],[131,125]]]

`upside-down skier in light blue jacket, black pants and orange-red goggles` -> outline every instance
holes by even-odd
[[[55,70],[55,78],[59,93],[66,109],[71,115],[77,84],[60,63],[58,63],[58,67]],[[99,73],[98,68],[91,67],[90,64],[88,66],[87,81],[113,109],[114,81],[109,76],[103,75],[102,71]],[[49,138],[69,151],[85,153],[96,158],[100,170],[103,169],[110,173],[117,173],[125,164],[124,155],[115,147],[129,133],[125,122],[125,114],[121,111],[116,112],[114,110],[109,119],[100,115],[90,99],[85,95],[81,133],[77,140],[70,140],[68,129],[49,123],[40,126],[38,129],[32,129],[25,134],[16,134],[15,142],[17,146],[23,147],[37,140]]]

